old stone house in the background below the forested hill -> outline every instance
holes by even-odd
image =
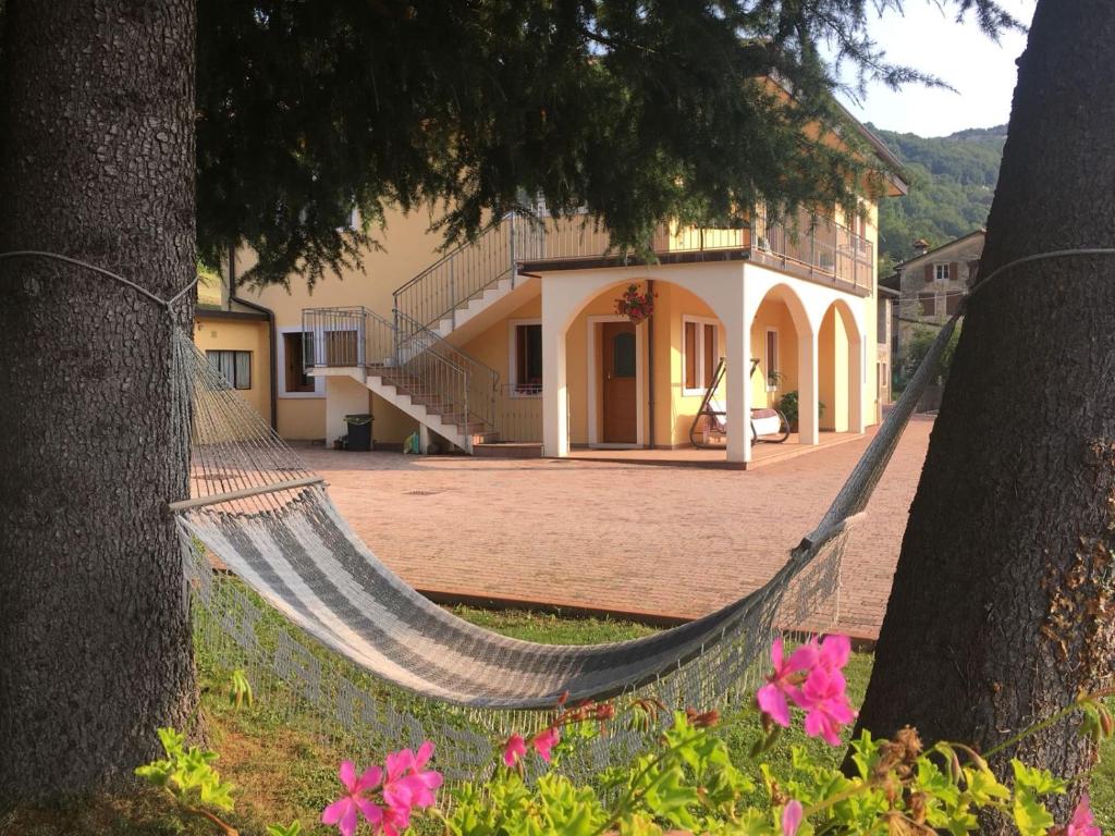
[[[917,241],[917,254],[898,264],[883,282],[898,292],[894,363],[901,366],[905,346],[919,327],[940,325],[957,312],[979,268],[986,234],[986,230],[976,230],[932,249],[928,242]]]

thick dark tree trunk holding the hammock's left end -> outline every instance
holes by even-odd
[[[9,0],[0,252],[161,297],[195,274],[193,0]],[[196,700],[172,317],[79,268],[0,261],[0,804],[110,787]]]

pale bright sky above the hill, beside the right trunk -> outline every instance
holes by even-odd
[[[1036,0],[1000,0],[1011,14],[1029,25]],[[842,96],[861,121],[888,130],[946,136],[963,128],[1002,125],[1010,116],[1015,59],[1026,48],[1025,33],[1011,32],[996,43],[971,16],[956,22],[956,7],[935,0],[906,0],[905,14],[886,13],[871,25],[872,38],[888,58],[952,85],[958,93],[910,85],[894,93],[872,85],[856,103]]]

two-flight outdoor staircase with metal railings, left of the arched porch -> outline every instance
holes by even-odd
[[[541,455],[541,439],[522,437],[524,427],[541,430],[537,416],[522,415],[537,401],[513,398],[498,372],[457,344],[537,292],[517,263],[544,247],[544,227],[511,213],[396,290],[390,320],[366,308],[303,310],[307,372],[352,377],[468,454]],[[500,445],[508,435],[518,444]]]

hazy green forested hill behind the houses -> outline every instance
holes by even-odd
[[[910,257],[918,239],[938,246],[987,223],[1006,125],[929,138],[871,129],[902,161],[911,179],[909,195],[880,203],[880,275],[890,272],[891,262]]]

